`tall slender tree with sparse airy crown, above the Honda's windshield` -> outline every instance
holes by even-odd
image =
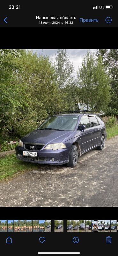
[[[66,49],[57,50],[55,58],[55,81],[61,97],[63,110],[78,110],[77,85],[74,78],[74,66]]]

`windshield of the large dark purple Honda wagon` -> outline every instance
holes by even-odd
[[[78,121],[78,116],[51,116],[37,130],[69,130],[73,131]]]

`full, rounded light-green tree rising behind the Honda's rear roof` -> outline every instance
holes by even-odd
[[[102,64],[102,58],[87,52],[82,66],[77,71],[78,97],[84,109],[100,112],[110,100],[109,76]]]

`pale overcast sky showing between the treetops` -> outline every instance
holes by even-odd
[[[55,53],[57,52],[57,49],[33,49],[33,52],[37,50],[37,54],[48,55],[50,56],[50,59],[52,58],[52,61],[55,61]],[[81,66],[82,58],[87,53],[87,51],[90,50],[91,52],[96,52],[96,49],[67,49],[67,53],[70,56],[70,61],[73,63],[75,68],[75,73],[78,69],[78,66]]]

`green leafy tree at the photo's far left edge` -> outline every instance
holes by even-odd
[[[14,108],[26,105],[22,88],[14,79],[19,68],[16,59],[21,53],[20,50],[0,50],[0,134],[9,123]]]

